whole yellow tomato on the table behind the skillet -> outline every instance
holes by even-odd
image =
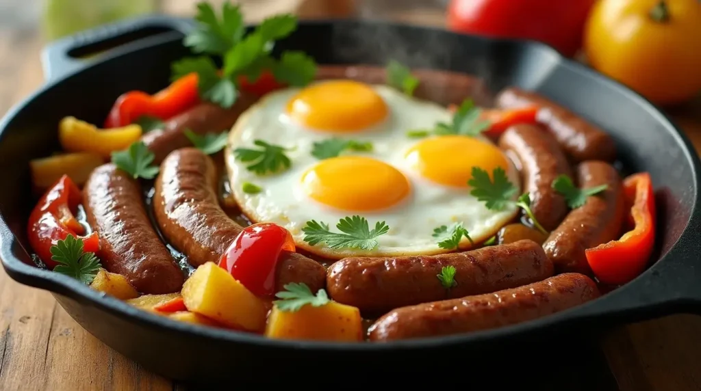
[[[600,0],[585,30],[590,64],[657,104],[701,91],[699,0]]]

